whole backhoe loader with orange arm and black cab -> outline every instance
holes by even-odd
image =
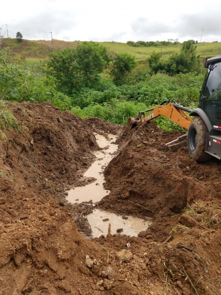
[[[129,130],[139,123],[164,116],[188,130],[181,139],[187,136],[191,158],[198,162],[212,157],[221,159],[221,55],[207,59],[204,67],[208,68],[208,72],[196,109],[188,109],[174,102],[165,105],[164,101],[155,108],[139,112],[136,117],[128,118]],[[186,113],[194,118],[191,119]]]

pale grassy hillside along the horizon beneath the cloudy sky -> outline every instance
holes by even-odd
[[[173,53],[179,53],[181,48],[181,43],[171,44],[169,46],[150,46],[150,47],[132,47],[126,43],[119,42],[97,42],[104,45],[114,56],[117,52],[123,53],[127,52],[135,56],[136,59],[146,59],[153,51],[161,52],[162,58],[167,58]],[[0,40],[0,47],[10,47],[10,49],[18,56],[25,57],[28,59],[47,59],[50,50],[64,49],[66,47],[76,48],[82,41],[67,42],[62,40],[46,41],[46,40],[23,40],[18,43],[16,39],[2,38]],[[215,56],[221,54],[221,43],[201,43],[196,44],[197,53],[201,56]]]

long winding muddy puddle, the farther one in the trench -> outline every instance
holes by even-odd
[[[84,173],[84,177],[95,177],[93,183],[85,186],[78,186],[75,189],[68,191],[67,201],[71,203],[89,202],[93,203],[101,201],[101,199],[107,196],[110,191],[103,188],[104,175],[103,171],[114,157],[114,152],[117,151],[118,145],[115,145],[116,135],[109,134],[108,137],[111,141],[108,141],[104,136],[93,133],[96,137],[97,144],[100,148],[105,148],[100,151],[95,151],[94,154],[97,160],[90,166],[90,168]]]

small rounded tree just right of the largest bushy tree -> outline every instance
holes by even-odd
[[[125,77],[136,67],[135,57],[128,53],[121,53],[117,55],[117,59],[113,61],[113,68],[111,70],[111,77],[116,86],[124,83]]]

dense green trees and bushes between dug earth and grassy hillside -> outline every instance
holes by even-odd
[[[17,46],[21,48],[25,42]],[[155,51],[139,62],[126,51],[111,61],[107,47],[95,42],[52,51],[50,59],[39,62],[16,59],[1,45],[0,100],[51,101],[82,118],[99,117],[118,124],[126,124],[128,117],[162,101],[196,107],[204,76],[191,40],[173,44],[174,48],[182,46],[181,52],[168,59],[161,59],[161,53]],[[155,122],[166,130],[180,130],[164,117]]]

